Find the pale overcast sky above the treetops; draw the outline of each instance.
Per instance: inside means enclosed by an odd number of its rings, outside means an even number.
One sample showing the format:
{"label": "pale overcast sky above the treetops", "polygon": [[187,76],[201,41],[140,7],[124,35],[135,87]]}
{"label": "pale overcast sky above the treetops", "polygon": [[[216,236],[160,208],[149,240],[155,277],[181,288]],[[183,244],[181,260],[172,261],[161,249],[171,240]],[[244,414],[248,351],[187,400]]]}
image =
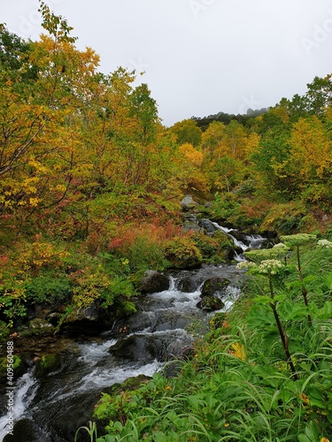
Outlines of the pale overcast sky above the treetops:
{"label": "pale overcast sky above the treetops", "polygon": [[[332,72],[331,0],[45,0],[96,50],[100,71],[145,71],[166,126],[245,113]],[[37,0],[0,0],[0,22],[42,32]]]}

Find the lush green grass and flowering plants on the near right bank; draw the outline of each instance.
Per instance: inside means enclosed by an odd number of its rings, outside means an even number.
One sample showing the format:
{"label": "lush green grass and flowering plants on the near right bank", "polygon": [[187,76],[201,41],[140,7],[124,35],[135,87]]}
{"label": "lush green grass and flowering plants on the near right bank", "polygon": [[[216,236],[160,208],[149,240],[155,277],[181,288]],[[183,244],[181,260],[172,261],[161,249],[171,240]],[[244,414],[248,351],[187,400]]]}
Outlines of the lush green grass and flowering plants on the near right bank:
{"label": "lush green grass and flowering plants on the near right bank", "polygon": [[197,336],[177,377],[158,373],[138,389],[104,393],[95,420],[107,423],[105,435],[97,438],[92,422],[80,431],[98,442],[328,441],[332,243],[314,235],[284,240],[285,248],[248,255],[241,300]]}

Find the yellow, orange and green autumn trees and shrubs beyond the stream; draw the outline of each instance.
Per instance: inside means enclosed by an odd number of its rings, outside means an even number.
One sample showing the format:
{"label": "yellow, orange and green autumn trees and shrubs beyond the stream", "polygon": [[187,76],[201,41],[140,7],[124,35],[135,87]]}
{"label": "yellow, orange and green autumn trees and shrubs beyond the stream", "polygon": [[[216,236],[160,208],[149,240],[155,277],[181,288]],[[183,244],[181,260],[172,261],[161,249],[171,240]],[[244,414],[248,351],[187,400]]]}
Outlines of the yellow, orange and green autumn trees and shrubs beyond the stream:
{"label": "yellow, orange and green autumn trees and shrubs beyond the stream", "polygon": [[121,310],[137,273],[225,259],[223,241],[181,229],[186,194],[202,217],[250,232],[328,232],[330,75],[258,116],[166,128],[135,72],[98,72],[66,19],[40,11],[37,42],[0,29],[4,331],[41,303]]}

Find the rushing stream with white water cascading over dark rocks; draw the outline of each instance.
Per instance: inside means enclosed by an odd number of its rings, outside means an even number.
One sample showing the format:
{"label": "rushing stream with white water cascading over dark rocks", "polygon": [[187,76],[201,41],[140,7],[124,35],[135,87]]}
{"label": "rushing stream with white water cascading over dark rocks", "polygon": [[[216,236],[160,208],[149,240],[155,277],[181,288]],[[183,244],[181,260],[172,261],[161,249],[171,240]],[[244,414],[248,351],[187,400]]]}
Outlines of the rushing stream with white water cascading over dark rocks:
{"label": "rushing stream with white water cascading over dark rocks", "polygon": [[[265,239],[259,235],[243,235],[236,239],[227,232],[235,246],[243,251],[259,248]],[[243,255],[235,256],[237,261]],[[63,339],[58,354],[61,366],[47,377],[37,379],[30,369],[15,381],[15,436],[7,436],[7,398],[2,387],[0,399],[0,440],[24,442],[73,442],[74,433],[91,420],[94,405],[101,392],[128,377],[152,376],[172,355],[179,356],[189,347],[194,332],[204,333],[213,313],[197,309],[201,287],[215,276],[228,278],[230,285],[222,293],[225,307],[231,309],[240,296],[243,271],[233,264],[206,265],[192,271],[167,272],[168,290],[146,295],[135,316],[116,324],[98,337]],[[17,437],[19,435],[19,438]],[[80,439],[81,440],[81,439]],[[85,440],[85,439],[84,439]]]}

